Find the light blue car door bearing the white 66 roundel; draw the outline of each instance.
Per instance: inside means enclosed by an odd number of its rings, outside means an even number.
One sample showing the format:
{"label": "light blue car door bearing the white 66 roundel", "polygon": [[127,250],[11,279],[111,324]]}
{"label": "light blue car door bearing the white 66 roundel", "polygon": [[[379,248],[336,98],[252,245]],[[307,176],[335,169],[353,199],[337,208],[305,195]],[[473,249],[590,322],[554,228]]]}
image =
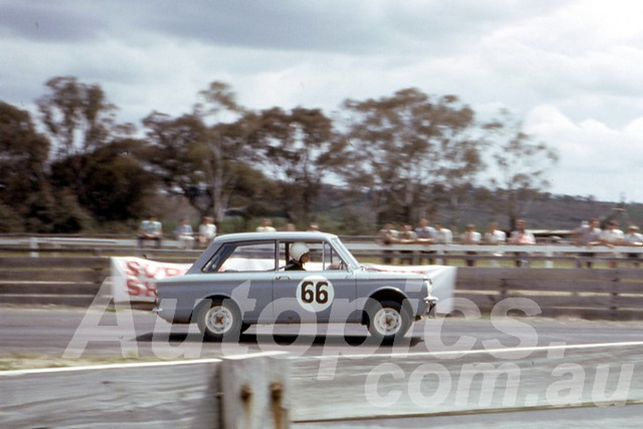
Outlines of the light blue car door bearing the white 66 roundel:
{"label": "light blue car door bearing the white 66 roundel", "polygon": [[[292,242],[280,243],[280,266]],[[273,311],[277,323],[346,322],[356,309],[356,280],[326,241],[306,242],[311,260],[304,271],[279,269],[273,280]]]}

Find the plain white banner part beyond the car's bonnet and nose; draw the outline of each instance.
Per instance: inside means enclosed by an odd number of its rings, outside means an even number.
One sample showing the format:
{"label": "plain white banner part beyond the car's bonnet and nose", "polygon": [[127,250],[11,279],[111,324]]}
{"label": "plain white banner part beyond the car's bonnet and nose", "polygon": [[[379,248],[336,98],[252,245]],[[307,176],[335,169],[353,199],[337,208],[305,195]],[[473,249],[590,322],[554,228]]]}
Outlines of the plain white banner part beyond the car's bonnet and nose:
{"label": "plain white banner part beyond the car's bonnet and nose", "polygon": [[435,313],[446,314],[453,311],[453,291],[455,290],[456,268],[443,265],[376,265],[368,264],[369,269],[389,273],[426,274],[433,283],[433,296],[438,298]]}

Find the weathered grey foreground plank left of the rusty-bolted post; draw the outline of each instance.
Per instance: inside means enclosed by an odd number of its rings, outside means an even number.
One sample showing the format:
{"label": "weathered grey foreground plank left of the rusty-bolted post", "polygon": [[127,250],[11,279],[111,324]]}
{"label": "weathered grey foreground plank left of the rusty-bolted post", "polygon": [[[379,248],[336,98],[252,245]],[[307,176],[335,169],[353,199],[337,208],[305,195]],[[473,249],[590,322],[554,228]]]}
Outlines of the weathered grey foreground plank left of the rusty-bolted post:
{"label": "weathered grey foreground plank left of the rusty-bolted post", "polygon": [[215,363],[0,373],[2,427],[218,428]]}

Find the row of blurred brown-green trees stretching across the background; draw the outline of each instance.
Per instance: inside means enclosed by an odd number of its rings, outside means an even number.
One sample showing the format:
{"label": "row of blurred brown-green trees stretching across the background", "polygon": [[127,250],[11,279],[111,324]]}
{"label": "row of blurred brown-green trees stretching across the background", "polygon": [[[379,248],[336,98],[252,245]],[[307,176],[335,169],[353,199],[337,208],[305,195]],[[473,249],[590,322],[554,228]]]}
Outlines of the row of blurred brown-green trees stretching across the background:
{"label": "row of blurred brown-green trees stretching across the background", "polygon": [[[42,132],[28,112],[0,102],[0,231],[125,224],[150,211],[159,185],[217,221],[241,208],[302,225],[334,205],[346,228],[414,222],[467,200],[489,166],[490,204],[515,219],[556,162],[508,115],[481,126],[456,96],[415,88],[346,100],[331,119],[306,107],[253,111],[214,81],[188,113],[143,118],[145,138],[117,122],[100,85],[75,77],[48,80],[37,106]],[[363,219],[363,201],[373,217]]]}

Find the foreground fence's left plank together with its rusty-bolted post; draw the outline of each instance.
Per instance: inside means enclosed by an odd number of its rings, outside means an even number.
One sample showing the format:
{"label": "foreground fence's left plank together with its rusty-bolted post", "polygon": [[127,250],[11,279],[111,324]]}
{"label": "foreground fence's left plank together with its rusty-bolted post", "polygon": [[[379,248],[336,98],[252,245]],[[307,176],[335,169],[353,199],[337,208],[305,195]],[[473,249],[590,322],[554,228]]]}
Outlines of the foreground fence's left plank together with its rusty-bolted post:
{"label": "foreground fence's left plank together with its rusty-bolted post", "polygon": [[289,427],[289,365],[243,358],[0,371],[0,426]]}

